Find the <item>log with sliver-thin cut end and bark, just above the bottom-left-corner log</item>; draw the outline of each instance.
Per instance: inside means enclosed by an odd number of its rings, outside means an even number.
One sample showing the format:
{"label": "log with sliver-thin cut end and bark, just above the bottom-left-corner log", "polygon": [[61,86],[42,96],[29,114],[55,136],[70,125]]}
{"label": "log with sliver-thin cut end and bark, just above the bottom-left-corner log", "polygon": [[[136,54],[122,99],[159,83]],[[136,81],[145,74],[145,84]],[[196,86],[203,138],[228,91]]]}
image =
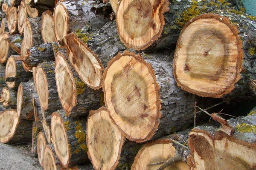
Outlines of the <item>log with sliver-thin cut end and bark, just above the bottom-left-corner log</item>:
{"label": "log with sliver-thin cut end and bark, just above the bottom-left-corner log", "polygon": [[20,83],[17,91],[17,114],[20,119],[34,119],[33,93],[35,93],[35,84],[32,80]]}

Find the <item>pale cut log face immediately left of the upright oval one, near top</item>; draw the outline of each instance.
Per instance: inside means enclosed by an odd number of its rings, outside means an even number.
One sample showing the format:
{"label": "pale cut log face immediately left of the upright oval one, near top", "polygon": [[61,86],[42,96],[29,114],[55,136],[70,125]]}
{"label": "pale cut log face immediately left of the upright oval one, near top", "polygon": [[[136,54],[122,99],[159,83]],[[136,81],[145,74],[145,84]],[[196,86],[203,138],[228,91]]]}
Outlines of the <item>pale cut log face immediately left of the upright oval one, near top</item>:
{"label": "pale cut log face immediately left of the upright oval one, near top", "polygon": [[56,37],[54,34],[54,25],[52,19],[52,12],[49,10],[42,14],[42,38],[44,42],[54,42]]}

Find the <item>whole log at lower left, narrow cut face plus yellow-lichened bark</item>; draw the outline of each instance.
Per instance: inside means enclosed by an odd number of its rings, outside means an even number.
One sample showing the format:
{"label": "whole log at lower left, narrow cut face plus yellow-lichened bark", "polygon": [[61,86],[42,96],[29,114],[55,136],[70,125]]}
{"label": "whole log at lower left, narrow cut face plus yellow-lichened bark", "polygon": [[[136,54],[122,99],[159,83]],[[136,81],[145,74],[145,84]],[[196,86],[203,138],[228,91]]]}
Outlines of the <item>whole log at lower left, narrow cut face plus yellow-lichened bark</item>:
{"label": "whole log at lower left, narrow cut face plus yellow-lichened bark", "polygon": [[70,119],[65,111],[52,113],[52,143],[58,160],[64,167],[89,161],[86,145],[86,119]]}

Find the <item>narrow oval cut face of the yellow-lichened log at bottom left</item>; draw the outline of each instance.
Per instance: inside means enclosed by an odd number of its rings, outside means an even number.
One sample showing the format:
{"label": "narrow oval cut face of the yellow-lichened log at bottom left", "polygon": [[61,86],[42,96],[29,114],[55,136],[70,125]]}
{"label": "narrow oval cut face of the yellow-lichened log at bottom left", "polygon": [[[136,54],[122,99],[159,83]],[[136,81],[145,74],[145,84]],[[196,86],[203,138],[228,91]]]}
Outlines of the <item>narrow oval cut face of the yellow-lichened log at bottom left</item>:
{"label": "narrow oval cut face of the yellow-lichened log at bottom left", "polygon": [[64,167],[67,167],[70,159],[70,149],[65,125],[58,113],[52,113],[51,130],[52,143],[58,160]]}

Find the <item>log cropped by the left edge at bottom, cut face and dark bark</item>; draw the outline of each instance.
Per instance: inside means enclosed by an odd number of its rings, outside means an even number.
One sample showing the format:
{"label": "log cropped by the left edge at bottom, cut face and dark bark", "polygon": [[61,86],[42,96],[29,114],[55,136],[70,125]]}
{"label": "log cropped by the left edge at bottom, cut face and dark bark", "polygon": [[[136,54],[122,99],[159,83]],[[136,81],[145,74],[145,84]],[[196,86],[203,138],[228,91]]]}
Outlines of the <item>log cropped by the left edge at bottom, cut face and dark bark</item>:
{"label": "log cropped by the left edge at bottom, cut face and dark bark", "polygon": [[19,119],[14,109],[0,113],[0,142],[18,144],[31,140],[32,121]]}

